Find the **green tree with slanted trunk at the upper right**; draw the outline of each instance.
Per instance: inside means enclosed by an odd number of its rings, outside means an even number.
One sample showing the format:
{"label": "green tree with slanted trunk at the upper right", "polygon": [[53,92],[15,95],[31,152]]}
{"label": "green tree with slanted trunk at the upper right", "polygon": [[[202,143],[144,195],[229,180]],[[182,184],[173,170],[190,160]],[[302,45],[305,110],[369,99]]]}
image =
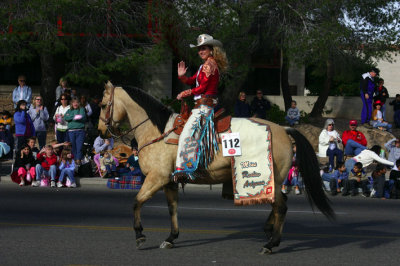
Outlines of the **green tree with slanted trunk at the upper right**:
{"label": "green tree with slanted trunk at the upper right", "polygon": [[[282,49],[293,64],[323,70],[323,88],[311,116],[320,116],[335,77],[372,56],[389,58],[398,43],[399,6],[395,1],[280,1]],[[366,72],[365,69],[363,72]],[[362,73],[362,72],[361,72]],[[358,77],[360,77],[360,74]]]}

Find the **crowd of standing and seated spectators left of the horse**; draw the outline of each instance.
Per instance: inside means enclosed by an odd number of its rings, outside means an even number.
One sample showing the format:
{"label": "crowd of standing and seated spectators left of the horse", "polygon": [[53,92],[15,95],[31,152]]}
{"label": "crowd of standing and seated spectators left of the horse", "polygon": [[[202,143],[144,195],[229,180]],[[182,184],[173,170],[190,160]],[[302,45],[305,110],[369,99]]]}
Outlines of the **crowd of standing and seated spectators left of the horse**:
{"label": "crowd of standing and seated spectators left of the horse", "polygon": [[[87,95],[80,95],[61,78],[55,89],[56,102],[48,110],[42,96],[33,97],[32,102],[25,76],[18,77],[18,84],[12,97],[14,114],[4,110],[0,117],[0,158],[13,159],[14,182],[20,186],[76,187],[75,175],[90,162],[102,177],[141,175],[135,142],[128,163],[120,164],[111,154],[114,140],[96,138],[99,96],[89,102]],[[53,125],[55,139],[48,141]]]}

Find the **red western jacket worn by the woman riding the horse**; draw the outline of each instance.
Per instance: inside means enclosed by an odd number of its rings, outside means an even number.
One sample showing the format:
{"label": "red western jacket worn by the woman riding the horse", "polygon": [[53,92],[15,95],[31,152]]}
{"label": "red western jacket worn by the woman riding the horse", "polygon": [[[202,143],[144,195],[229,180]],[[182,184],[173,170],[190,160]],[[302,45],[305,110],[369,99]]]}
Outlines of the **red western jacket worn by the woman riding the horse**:
{"label": "red western jacket worn by the woman riding the horse", "polygon": [[217,95],[219,83],[219,70],[217,62],[214,58],[209,57],[199,70],[192,77],[181,76],[179,79],[188,85],[196,83],[196,78],[199,86],[192,89],[192,95]]}

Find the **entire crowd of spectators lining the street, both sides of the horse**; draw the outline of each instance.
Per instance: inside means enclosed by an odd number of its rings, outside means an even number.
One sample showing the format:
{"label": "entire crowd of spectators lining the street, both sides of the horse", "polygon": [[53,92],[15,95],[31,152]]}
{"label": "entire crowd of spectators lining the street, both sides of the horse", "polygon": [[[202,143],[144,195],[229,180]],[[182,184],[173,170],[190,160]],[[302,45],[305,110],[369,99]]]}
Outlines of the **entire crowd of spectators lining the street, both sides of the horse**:
{"label": "entire crowd of spectators lining the street, both sides of the horse", "polygon": [[[372,69],[362,75],[360,94],[363,101],[361,122],[380,130],[391,131],[392,126],[386,122],[386,104],[389,97],[383,79],[375,85],[377,70]],[[66,79],[61,78],[55,90],[56,102],[53,110],[43,105],[43,98],[35,96],[32,102],[32,89],[26,85],[26,77],[18,77],[18,86],[13,91],[15,112],[12,115],[4,110],[0,117],[0,157],[13,158],[14,171],[12,178],[21,186],[30,183],[32,186],[48,182],[52,187],[76,187],[76,169],[82,165],[84,142],[94,139],[93,129],[100,115],[100,97],[93,97],[89,102],[87,95],[80,95],[75,88],[70,88]],[[400,95],[389,103],[394,108],[394,126],[400,127]],[[373,107],[373,108],[372,108]],[[267,119],[270,102],[264,98],[261,90],[251,103],[246,101],[246,93],[240,92],[234,106],[236,117],[258,117]],[[285,117],[290,126],[300,120],[300,111],[296,101]],[[46,145],[50,121],[54,122],[56,140]],[[393,138],[385,144],[388,159],[381,146],[368,149],[366,137],[357,130],[357,120],[349,122],[349,129],[340,134],[335,129],[333,119],[327,119],[319,136],[318,156],[328,157],[329,163],[322,173],[322,179],[329,183],[332,195],[342,193],[356,195],[358,189],[364,196],[385,198],[388,190],[395,191],[399,186],[400,139]],[[12,135],[15,133],[15,137]],[[36,147],[36,141],[39,148]],[[124,175],[141,175],[138,164],[137,148],[132,144],[132,155],[125,164],[120,165],[112,154],[114,140],[97,136],[93,141],[93,162],[100,176],[119,179]],[[91,151],[90,151],[91,152]],[[295,147],[294,147],[294,153]],[[372,163],[378,163],[371,176],[365,169]],[[390,180],[384,176],[390,169]],[[293,158],[282,192],[293,186],[295,193],[300,194],[301,176]],[[397,192],[396,192],[397,193]],[[393,193],[392,193],[393,194]],[[397,194],[395,194],[396,196]]]}

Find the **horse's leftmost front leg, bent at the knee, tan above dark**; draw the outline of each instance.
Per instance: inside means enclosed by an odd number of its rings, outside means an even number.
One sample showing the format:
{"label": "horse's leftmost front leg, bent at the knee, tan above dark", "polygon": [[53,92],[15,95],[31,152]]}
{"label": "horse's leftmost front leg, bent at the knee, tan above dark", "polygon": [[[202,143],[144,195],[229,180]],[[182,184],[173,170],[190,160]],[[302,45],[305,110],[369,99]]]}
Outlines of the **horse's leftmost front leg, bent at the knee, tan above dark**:
{"label": "horse's leftmost front leg, bent at the knee, tan above dark", "polygon": [[143,227],[141,223],[140,211],[142,205],[149,200],[158,190],[162,188],[162,180],[157,179],[157,174],[149,173],[143,183],[142,188],[136,195],[133,205],[134,222],[133,228],[136,234],[136,248],[140,248],[146,241],[146,236],[143,235]]}

